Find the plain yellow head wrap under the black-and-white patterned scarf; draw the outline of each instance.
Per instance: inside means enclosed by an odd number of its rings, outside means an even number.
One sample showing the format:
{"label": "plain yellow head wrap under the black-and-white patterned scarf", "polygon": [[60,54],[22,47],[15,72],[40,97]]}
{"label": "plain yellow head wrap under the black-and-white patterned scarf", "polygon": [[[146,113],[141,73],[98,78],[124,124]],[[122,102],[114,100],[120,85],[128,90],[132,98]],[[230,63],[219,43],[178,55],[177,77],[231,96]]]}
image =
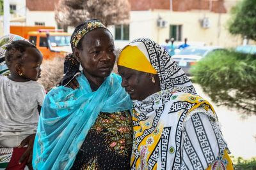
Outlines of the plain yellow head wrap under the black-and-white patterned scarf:
{"label": "plain yellow head wrap under the black-and-white patterned scarf", "polygon": [[119,55],[117,65],[146,73],[157,74],[156,69],[152,67],[147,57],[141,52],[138,46],[126,46]]}

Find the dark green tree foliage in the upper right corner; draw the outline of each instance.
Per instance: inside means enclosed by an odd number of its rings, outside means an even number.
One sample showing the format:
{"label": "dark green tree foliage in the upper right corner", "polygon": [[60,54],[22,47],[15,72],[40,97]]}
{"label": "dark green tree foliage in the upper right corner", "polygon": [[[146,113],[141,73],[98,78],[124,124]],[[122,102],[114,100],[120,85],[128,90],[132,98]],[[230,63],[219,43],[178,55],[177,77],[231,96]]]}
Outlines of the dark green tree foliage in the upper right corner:
{"label": "dark green tree foliage in the upper right corner", "polygon": [[256,0],[244,0],[237,3],[231,11],[232,18],[228,24],[231,34],[241,34],[256,41]]}

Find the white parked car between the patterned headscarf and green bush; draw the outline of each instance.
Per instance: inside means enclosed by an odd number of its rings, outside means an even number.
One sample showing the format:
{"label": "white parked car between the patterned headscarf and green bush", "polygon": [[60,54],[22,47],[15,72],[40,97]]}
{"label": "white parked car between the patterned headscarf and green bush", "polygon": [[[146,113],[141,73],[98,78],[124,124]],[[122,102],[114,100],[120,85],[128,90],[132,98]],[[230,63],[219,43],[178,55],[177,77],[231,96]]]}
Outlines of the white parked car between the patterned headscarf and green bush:
{"label": "white parked car between the patterned headscarf and green bush", "polygon": [[188,76],[191,76],[191,66],[195,65],[198,60],[216,50],[224,50],[224,48],[218,46],[188,46],[181,50],[177,55],[173,55],[172,59],[177,62]]}

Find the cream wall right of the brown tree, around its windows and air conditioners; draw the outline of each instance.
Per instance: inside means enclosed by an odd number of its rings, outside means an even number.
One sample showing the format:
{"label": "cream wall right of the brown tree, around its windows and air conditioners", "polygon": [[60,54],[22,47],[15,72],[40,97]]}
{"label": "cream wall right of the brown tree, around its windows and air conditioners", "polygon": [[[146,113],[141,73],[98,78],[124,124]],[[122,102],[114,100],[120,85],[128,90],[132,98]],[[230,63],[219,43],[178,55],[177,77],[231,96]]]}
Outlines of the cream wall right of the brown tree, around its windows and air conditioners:
{"label": "cream wall right of the brown tree, around its windows and air conditioners", "polygon": [[[228,13],[211,13],[207,10],[172,12],[168,10],[131,11],[130,38],[150,38],[158,43],[164,43],[170,36],[170,24],[182,25],[182,41],[188,38],[188,43],[205,44],[223,47],[241,45],[240,36],[232,36],[227,30]],[[167,21],[166,27],[157,27],[157,18]],[[209,18],[210,27],[204,29],[200,25],[202,18]],[[115,36],[115,27],[109,27]],[[129,41],[116,40],[115,45],[122,48]],[[179,43],[179,42],[175,42]]]}

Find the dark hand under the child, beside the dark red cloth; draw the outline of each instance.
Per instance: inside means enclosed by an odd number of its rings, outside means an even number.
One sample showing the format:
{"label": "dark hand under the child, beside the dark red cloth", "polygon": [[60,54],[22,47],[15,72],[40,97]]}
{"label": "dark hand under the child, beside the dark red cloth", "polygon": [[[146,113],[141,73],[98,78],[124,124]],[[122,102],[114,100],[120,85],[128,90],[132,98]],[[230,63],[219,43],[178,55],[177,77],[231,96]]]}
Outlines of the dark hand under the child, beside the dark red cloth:
{"label": "dark hand under the child, beside the dark red cloth", "polygon": [[22,147],[28,145],[28,148],[20,157],[19,164],[24,162],[24,160],[28,159],[26,165],[29,167],[29,169],[33,169],[32,155],[33,155],[33,146],[34,146],[35,136],[36,136],[36,134],[29,135],[27,138],[25,138],[23,141],[21,141],[21,143],[19,145],[19,148],[22,148]]}

